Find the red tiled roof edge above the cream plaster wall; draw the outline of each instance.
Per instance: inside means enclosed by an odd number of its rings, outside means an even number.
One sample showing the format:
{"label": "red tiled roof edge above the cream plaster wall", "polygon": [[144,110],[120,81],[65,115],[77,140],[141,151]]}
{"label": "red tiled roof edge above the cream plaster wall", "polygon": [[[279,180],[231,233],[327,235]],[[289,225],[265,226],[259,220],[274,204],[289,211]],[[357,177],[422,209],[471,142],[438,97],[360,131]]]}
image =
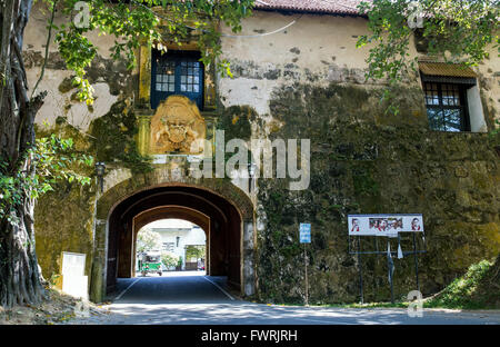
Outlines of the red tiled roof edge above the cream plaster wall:
{"label": "red tiled roof edge above the cream plaster wall", "polygon": [[[359,14],[362,0],[256,0],[256,10],[289,10],[299,12]],[[364,0],[369,2],[371,0]]]}

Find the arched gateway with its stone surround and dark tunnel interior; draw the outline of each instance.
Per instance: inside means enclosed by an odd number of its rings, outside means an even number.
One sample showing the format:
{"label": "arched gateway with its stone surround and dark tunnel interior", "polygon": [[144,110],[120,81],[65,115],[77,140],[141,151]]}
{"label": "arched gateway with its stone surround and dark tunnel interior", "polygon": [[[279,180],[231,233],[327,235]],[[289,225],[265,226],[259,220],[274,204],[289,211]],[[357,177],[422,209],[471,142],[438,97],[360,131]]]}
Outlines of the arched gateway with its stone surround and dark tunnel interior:
{"label": "arched gateway with its stone surround and dark tunnel interior", "polygon": [[[231,285],[240,287],[241,295],[256,293],[257,235],[250,197],[227,179],[189,176],[171,179],[167,167],[124,180],[106,179],[108,187],[104,186],[104,192],[96,201],[92,301],[106,299],[107,291],[113,289],[118,271],[131,276],[132,266],[127,262],[131,262],[133,255],[133,227],[138,230],[141,224],[169,216],[204,226],[203,230],[209,234],[207,242],[211,242],[212,275],[227,275]],[[203,225],[203,218],[209,218],[209,228]]]}

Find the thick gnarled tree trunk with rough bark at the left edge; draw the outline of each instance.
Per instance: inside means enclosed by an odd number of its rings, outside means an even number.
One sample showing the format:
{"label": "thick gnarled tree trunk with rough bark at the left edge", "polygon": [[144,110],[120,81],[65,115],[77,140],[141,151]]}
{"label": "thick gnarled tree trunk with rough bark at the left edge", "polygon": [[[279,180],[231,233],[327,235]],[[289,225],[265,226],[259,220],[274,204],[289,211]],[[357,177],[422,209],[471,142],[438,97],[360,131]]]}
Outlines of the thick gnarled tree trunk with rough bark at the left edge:
{"label": "thick gnarled tree trunk with rough bark at the left edge", "polygon": [[[22,37],[32,0],[0,0],[0,160],[3,175],[29,177],[34,165],[27,150],[34,143],[34,116],[46,93],[30,100],[22,62]],[[0,220],[0,306],[36,304],[43,295],[34,252],[34,200],[24,189]]]}

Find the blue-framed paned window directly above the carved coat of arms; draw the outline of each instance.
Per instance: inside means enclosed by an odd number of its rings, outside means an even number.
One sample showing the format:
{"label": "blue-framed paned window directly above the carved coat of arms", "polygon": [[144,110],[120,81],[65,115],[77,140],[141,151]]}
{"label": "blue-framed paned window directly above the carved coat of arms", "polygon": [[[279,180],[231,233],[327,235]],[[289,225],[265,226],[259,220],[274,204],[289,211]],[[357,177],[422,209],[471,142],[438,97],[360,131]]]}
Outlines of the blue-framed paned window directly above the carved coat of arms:
{"label": "blue-framed paned window directly above the carved coat of arms", "polygon": [[186,96],[203,107],[203,65],[193,51],[151,52],[151,108],[172,95]]}

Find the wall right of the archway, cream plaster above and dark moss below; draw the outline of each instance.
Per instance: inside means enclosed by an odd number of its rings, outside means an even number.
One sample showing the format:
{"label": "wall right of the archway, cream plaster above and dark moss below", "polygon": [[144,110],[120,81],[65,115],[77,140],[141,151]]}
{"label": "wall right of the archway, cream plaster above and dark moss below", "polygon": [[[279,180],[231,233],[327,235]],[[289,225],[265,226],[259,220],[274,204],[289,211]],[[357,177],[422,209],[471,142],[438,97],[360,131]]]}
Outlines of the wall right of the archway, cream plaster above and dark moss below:
{"label": "wall right of the archway, cream plaster above and dark moss below", "polygon": [[[301,303],[304,296],[299,222],[312,224],[310,299],[359,299],[358,258],[349,255],[348,214],[423,214],[427,254],[419,256],[424,295],[500,250],[500,168],[497,136],[429,130],[418,75],[406,77],[396,98],[398,116],[380,105],[383,81],[364,81],[368,49],[361,18],[257,12],[243,36],[223,38],[234,79],[219,80],[224,106],[254,110],[252,137],[311,140],[308,190],[260,179],[259,294],[262,300]],[[229,34],[229,31],[226,31]],[[410,54],[417,51],[411,47]],[[474,68],[489,130],[500,99],[500,59]],[[362,241],[366,250],[384,240]],[[404,240],[403,250],[411,250]],[[423,245],[419,245],[423,247]],[[354,245],[351,245],[354,247]],[[392,241],[391,249],[397,249]],[[384,256],[362,257],[366,300],[390,298]],[[416,289],[413,257],[396,259],[397,298]]]}

